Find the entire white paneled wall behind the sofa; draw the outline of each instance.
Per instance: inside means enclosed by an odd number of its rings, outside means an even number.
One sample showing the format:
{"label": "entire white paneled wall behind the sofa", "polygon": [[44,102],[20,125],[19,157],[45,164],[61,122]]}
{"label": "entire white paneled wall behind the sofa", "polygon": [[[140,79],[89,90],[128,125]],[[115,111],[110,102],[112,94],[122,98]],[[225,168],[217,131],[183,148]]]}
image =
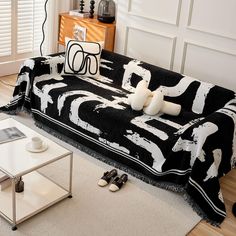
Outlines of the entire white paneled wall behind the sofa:
{"label": "entire white paneled wall behind the sofa", "polygon": [[236,0],[118,0],[115,50],[236,91]]}

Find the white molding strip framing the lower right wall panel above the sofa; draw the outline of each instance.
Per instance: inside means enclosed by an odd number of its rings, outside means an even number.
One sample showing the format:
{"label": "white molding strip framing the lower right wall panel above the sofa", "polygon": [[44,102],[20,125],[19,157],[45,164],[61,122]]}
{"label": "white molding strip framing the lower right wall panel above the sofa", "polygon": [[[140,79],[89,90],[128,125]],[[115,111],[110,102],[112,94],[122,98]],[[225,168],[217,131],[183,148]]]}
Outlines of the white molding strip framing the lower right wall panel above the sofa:
{"label": "white molding strip framing the lower right wall panel above the sofa", "polygon": [[226,54],[226,55],[229,55],[229,56],[236,57],[236,54],[233,54],[233,53],[230,53],[230,52],[218,49],[218,48],[212,48],[212,47],[208,47],[207,45],[198,44],[198,43],[191,42],[191,41],[185,41],[184,42],[184,48],[183,48],[183,54],[182,54],[181,67],[180,67],[181,68],[180,69],[180,73],[181,74],[184,74],[187,50],[188,50],[188,46],[189,45],[192,45],[192,46],[195,46],[195,47],[199,47],[199,48],[204,48],[204,49],[207,49],[207,50],[210,50],[210,51],[214,51],[214,52],[218,52],[218,53],[222,53],[222,54]]}

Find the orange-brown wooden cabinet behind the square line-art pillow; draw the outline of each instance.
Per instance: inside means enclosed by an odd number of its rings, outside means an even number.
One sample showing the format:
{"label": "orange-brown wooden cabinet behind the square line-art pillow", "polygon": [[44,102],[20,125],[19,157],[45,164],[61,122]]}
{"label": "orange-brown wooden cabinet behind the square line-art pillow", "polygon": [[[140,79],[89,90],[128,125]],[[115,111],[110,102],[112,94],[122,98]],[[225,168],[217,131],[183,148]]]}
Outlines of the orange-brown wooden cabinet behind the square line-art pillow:
{"label": "orange-brown wooden cabinet behind the square line-art pillow", "polygon": [[75,38],[74,30],[76,26],[86,28],[86,41],[104,41],[104,49],[113,51],[115,41],[115,23],[105,24],[96,19],[70,16],[68,13],[59,15],[59,37],[58,43],[65,45],[65,37]]}

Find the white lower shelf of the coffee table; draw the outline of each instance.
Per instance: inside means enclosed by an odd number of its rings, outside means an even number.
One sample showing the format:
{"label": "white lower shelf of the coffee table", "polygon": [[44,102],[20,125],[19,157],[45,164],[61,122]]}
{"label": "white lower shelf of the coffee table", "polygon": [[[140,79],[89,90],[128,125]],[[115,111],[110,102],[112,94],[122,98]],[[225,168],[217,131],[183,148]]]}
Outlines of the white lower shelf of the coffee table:
{"label": "white lower shelf of the coffee table", "polygon": [[[69,196],[68,191],[37,171],[24,175],[23,181],[24,191],[16,193],[17,224]],[[11,186],[0,191],[0,211],[9,221],[13,220]]]}

